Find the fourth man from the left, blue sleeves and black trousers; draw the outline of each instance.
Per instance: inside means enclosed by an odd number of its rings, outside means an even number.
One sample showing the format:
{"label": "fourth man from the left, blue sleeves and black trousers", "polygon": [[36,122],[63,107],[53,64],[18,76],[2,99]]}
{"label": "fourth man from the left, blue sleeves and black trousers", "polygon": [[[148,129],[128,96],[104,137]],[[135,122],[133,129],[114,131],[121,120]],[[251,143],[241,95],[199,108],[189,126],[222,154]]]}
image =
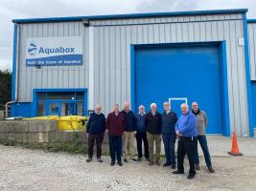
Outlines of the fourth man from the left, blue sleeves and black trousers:
{"label": "fourth man from the left, blue sleeves and black trousers", "polygon": [[144,105],[139,106],[139,112],[136,114],[137,118],[137,151],[138,151],[138,161],[143,157],[142,155],[142,141],[144,143],[144,157],[149,160],[149,143],[147,139],[146,126],[145,126],[145,107]]}

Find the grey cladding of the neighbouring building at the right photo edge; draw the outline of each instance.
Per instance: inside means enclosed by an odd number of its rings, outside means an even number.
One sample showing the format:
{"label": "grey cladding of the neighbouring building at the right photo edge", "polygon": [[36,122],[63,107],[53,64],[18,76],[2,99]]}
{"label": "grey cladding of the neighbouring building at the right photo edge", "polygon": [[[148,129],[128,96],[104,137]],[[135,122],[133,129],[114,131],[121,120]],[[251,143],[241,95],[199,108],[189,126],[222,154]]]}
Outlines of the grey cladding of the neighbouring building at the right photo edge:
{"label": "grey cladding of the neighbouring building at the right photo edge", "polygon": [[250,79],[256,80],[256,23],[248,23]]}

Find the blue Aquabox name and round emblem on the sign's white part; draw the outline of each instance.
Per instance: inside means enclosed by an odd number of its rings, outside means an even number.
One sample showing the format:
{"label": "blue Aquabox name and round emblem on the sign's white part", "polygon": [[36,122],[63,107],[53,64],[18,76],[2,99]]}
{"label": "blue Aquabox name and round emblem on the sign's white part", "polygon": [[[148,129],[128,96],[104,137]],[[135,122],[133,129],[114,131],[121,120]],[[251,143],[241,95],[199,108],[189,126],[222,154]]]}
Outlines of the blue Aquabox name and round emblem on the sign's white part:
{"label": "blue Aquabox name and round emblem on the sign's white part", "polygon": [[44,53],[44,54],[51,54],[51,53],[75,53],[74,47],[54,47],[54,48],[44,48],[40,47],[37,48],[34,42],[31,42],[28,52],[31,55],[35,55],[36,53]]}

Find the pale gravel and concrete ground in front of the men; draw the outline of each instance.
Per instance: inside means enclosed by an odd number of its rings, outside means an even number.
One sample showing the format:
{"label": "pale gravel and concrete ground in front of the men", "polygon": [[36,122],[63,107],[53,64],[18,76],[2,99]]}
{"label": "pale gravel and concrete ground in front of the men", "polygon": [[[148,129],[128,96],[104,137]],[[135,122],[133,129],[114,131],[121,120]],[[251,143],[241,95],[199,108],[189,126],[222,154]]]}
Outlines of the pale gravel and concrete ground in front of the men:
{"label": "pale gravel and concrete ground in front of the men", "polygon": [[[123,167],[85,162],[86,156],[47,153],[0,145],[0,190],[256,190],[256,138],[239,138],[243,157],[226,154],[231,138],[208,137],[216,173],[208,173],[203,158],[194,180],[173,175],[171,168],[149,166],[146,160]],[[162,163],[164,159],[162,160]]]}

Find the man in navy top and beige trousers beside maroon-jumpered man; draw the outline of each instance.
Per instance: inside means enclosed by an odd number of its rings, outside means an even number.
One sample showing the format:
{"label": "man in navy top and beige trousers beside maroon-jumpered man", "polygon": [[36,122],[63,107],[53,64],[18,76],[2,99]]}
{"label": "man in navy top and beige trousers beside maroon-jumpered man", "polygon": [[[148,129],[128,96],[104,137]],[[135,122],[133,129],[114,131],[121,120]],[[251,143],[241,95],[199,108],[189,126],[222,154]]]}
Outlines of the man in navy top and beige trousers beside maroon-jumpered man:
{"label": "man in navy top and beige trousers beside maroon-jumpered man", "polygon": [[123,133],[124,161],[128,162],[128,159],[136,161],[137,159],[134,159],[134,137],[137,133],[137,121],[134,113],[129,109],[128,101],[125,101],[122,113],[126,121],[125,132]]}

